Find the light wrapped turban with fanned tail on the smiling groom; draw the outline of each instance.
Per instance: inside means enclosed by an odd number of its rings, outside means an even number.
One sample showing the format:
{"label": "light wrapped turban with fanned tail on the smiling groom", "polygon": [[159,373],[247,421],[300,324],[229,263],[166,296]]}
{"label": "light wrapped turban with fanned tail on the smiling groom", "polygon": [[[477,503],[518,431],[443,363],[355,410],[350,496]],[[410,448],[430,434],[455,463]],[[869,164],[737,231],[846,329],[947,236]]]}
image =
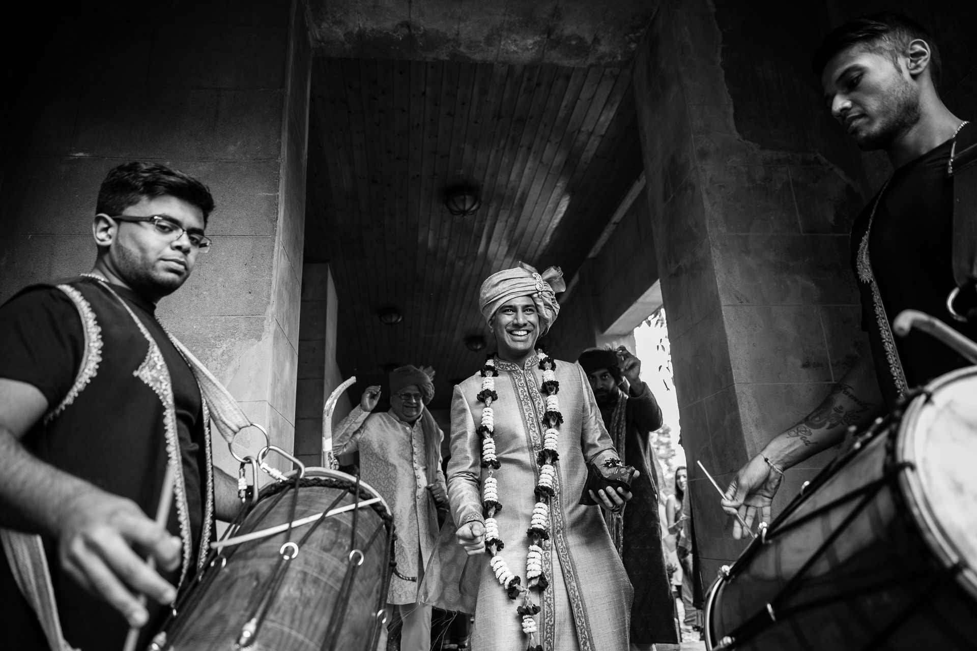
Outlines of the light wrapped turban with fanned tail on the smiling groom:
{"label": "light wrapped turban with fanned tail on the smiling groom", "polygon": [[536,306],[539,315],[539,335],[545,335],[550,325],[560,313],[560,304],[556,302],[556,293],[565,292],[566,283],[563,282],[563,271],[559,266],[551,266],[542,273],[529,264],[520,263],[511,269],[496,271],[482,283],[479,292],[479,305],[486,321],[491,322],[495,311],[513,299],[528,296]]}

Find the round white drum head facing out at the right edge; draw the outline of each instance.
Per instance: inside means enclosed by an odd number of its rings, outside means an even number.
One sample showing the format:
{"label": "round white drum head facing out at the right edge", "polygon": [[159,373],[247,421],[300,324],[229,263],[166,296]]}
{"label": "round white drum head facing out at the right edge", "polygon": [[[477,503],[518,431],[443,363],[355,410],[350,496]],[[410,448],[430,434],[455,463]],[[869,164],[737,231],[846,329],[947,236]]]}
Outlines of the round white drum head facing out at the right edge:
{"label": "round white drum head facing out at the right edge", "polygon": [[977,367],[935,380],[906,411],[898,459],[903,490],[923,537],[947,567],[960,563],[977,597]]}

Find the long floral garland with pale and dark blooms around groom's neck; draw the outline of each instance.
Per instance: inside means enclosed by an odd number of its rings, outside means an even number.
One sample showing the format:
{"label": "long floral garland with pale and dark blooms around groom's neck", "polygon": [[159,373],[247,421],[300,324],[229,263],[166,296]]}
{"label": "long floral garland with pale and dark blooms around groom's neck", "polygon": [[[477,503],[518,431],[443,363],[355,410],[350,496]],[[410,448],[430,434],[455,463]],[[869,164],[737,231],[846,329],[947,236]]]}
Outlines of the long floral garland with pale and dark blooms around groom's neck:
{"label": "long floral garland with pale and dark blooms around groom's neck", "polygon": [[557,441],[559,440],[560,430],[558,427],[563,424],[563,414],[560,413],[560,403],[556,394],[560,391],[560,383],[556,380],[556,362],[543,350],[536,350],[539,356],[539,369],[543,372],[543,384],[540,388],[546,400],[546,412],[543,414],[542,424],[546,427],[543,435],[543,448],[536,456],[536,463],[539,466],[539,479],[534,489],[536,504],[532,509],[530,528],[526,534],[530,538],[530,549],[526,556],[526,585],[518,574],[512,572],[502,558],[501,551],[505,549],[498,531],[498,522],[495,520],[495,513],[502,509],[498,501],[498,480],[493,476],[495,470],[500,467],[498,458],[495,455],[495,414],[492,411],[491,403],[498,400],[498,393],[495,392],[495,378],[498,371],[495,369],[495,359],[488,355],[485,365],[482,367],[482,390],[479,392],[478,399],[485,403],[482,410],[482,424],[476,431],[482,436],[482,468],[488,468],[488,477],[483,482],[482,487],[482,506],[485,508],[486,517],[486,548],[491,552],[492,571],[499,584],[506,590],[510,599],[516,600],[522,596],[522,605],[516,608],[516,614],[522,619],[523,632],[529,635],[530,642],[528,651],[543,651],[542,644],[536,642],[536,621],[534,616],[539,612],[539,605],[533,603],[530,590],[537,588],[540,592],[546,590],[549,581],[543,573],[543,541],[549,540],[549,500],[555,495],[554,482],[556,481],[556,464],[559,459],[557,454]]}

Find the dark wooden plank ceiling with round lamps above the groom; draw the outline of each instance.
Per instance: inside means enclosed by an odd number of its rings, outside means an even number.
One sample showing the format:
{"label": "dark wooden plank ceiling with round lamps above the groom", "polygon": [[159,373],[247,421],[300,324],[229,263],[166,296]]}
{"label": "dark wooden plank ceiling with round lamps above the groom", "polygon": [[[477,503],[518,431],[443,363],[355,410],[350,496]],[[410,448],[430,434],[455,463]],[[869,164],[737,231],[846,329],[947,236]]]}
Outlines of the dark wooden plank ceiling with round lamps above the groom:
{"label": "dark wooden plank ceiling with round lamps above the groom", "polygon": [[[331,263],[351,398],[432,365],[444,408],[486,352],[464,344],[488,339],[482,281],[520,260],[569,281],[640,175],[630,72],[316,59],[312,96],[305,259]],[[474,216],[448,213],[457,185],[478,188]]]}

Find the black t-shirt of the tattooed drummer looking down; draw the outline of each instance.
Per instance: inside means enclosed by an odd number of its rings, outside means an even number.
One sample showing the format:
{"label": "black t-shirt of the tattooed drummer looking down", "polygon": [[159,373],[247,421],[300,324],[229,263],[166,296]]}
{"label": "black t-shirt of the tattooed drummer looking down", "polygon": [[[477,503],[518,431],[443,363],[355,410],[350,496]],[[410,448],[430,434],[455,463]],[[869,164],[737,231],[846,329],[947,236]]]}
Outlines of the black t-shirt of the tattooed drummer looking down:
{"label": "black t-shirt of the tattooed drummer looking down", "polygon": [[[947,295],[956,286],[951,266],[954,182],[947,175],[952,141],[931,149],[896,170],[882,192],[871,220],[869,255],[885,318],[890,328],[904,309],[918,309],[977,337],[977,327],[959,323],[947,311]],[[869,227],[874,200],[852,228],[852,266],[859,275],[859,248]],[[862,328],[869,333],[875,371],[890,403],[897,394],[886,342],[894,341],[908,387],[969,365],[951,348],[915,332],[889,340],[877,318],[871,284],[859,280]]]}

